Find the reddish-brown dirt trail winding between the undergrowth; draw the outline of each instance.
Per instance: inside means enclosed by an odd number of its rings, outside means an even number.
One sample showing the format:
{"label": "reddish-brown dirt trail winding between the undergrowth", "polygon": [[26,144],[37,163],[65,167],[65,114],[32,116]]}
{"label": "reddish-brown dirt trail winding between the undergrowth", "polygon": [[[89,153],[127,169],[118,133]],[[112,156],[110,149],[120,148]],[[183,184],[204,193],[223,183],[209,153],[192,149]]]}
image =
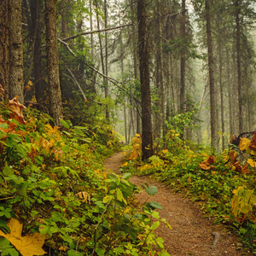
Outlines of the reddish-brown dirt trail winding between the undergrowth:
{"label": "reddish-brown dirt trail winding between the undergrowth", "polygon": [[[119,172],[124,154],[114,154],[106,160],[105,169],[108,172]],[[165,247],[171,256],[241,256],[244,255],[236,250],[236,236],[225,230],[224,225],[212,224],[189,199],[183,195],[175,194],[172,189],[168,189],[165,184],[158,183],[148,177],[131,177],[131,183],[138,187],[148,183],[149,186],[156,186],[158,193],[150,196],[149,201],[157,201],[164,208],[160,210],[160,217],[166,218],[171,224],[172,230],[165,226],[160,226],[156,234],[165,240]],[[140,193],[138,201],[145,202],[148,195]],[[247,256],[253,254],[247,253]]]}

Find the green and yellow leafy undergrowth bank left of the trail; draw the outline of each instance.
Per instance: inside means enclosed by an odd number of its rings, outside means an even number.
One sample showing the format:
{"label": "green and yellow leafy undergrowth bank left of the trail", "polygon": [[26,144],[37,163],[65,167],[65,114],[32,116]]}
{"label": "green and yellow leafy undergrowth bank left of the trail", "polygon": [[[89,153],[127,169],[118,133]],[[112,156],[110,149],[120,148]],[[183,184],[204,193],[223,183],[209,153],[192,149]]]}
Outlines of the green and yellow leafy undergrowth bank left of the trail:
{"label": "green and yellow leafy undergrowth bank left of the trail", "polygon": [[58,129],[43,113],[23,113],[16,98],[0,108],[1,255],[169,255],[154,235],[166,223],[160,205],[140,206],[131,174],[102,169],[118,148],[108,125],[61,120]]}

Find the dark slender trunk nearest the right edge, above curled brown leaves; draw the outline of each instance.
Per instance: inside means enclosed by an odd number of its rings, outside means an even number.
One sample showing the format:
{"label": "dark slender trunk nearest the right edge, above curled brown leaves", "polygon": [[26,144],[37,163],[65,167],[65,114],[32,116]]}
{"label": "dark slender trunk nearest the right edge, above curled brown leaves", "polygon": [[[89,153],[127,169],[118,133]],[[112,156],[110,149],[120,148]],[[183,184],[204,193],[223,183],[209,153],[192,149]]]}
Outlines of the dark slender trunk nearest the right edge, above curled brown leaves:
{"label": "dark slender trunk nearest the right edge, above curled brown leaves", "polygon": [[241,1],[236,0],[236,65],[237,65],[237,85],[238,85],[238,118],[239,133],[242,132],[242,90],[241,90],[241,28],[240,28],[240,12]]}

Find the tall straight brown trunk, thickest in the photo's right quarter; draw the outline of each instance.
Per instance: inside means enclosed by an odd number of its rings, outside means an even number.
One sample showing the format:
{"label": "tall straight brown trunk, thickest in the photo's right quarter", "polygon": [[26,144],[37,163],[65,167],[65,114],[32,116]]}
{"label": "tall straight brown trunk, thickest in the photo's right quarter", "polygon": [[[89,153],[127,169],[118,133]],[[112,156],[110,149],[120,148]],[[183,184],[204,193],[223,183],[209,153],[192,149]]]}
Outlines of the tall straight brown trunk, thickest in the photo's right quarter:
{"label": "tall straight brown trunk, thickest in the photo's right quarter", "polygon": [[211,1],[206,0],[206,19],[207,19],[207,49],[208,49],[208,68],[210,82],[210,123],[211,123],[211,146],[218,149],[218,134],[217,134],[217,116],[216,116],[216,85],[214,79],[214,61],[212,49],[212,24],[211,24]]}

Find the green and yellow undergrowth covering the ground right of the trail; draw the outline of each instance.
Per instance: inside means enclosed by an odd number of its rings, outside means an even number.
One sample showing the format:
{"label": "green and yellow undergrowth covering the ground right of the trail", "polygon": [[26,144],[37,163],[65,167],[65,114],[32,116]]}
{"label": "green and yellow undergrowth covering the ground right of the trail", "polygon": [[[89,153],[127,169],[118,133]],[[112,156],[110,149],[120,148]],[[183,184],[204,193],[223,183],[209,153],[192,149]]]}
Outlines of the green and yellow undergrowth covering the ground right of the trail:
{"label": "green and yellow undergrowth covering the ground right of the trail", "polygon": [[151,175],[197,201],[206,217],[235,230],[244,247],[256,254],[255,141],[256,134],[252,140],[241,138],[237,147],[212,154],[210,148],[185,142],[177,131],[169,130],[164,146],[143,162],[137,135],[121,171]]}

